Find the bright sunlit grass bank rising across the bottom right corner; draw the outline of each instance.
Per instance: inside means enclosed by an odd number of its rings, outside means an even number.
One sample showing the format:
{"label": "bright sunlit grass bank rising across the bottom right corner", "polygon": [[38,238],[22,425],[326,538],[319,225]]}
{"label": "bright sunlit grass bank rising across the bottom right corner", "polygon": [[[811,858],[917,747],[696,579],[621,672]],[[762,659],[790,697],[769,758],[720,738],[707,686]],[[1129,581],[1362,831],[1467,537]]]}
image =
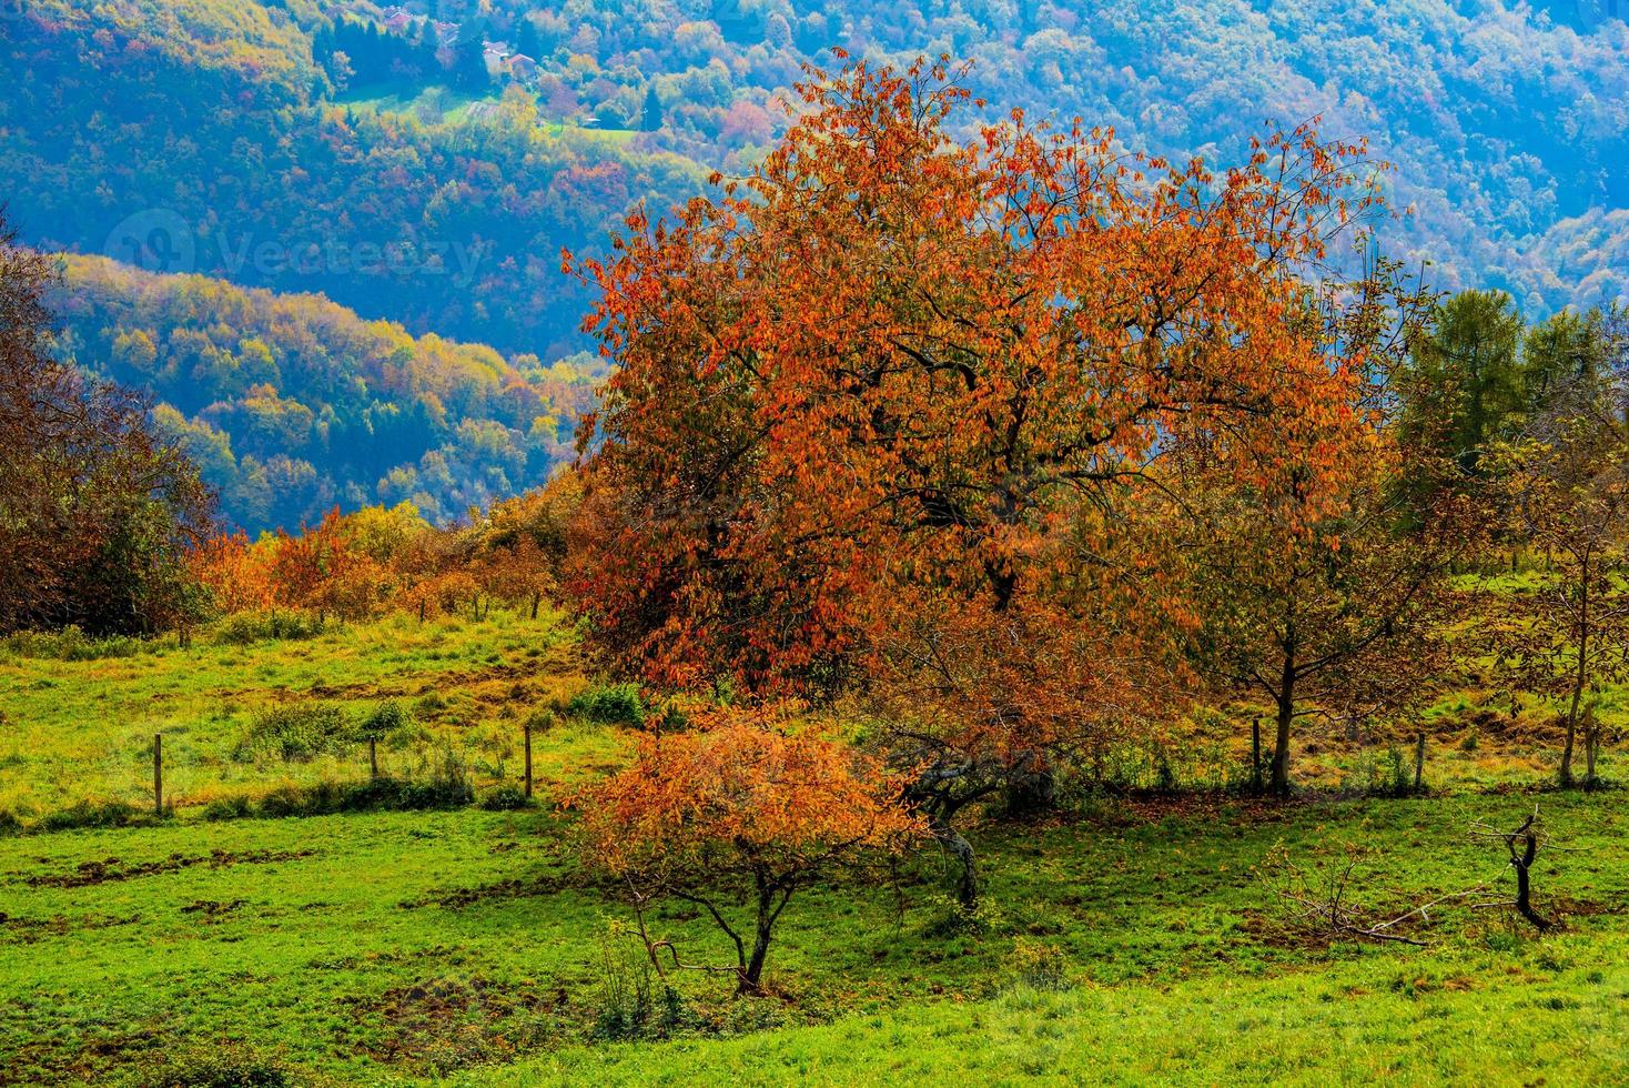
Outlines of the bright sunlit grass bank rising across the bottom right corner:
{"label": "bright sunlit grass bank rising across the bottom right corner", "polygon": [[[1629,945],[1391,961],[1267,981],[1018,989],[725,1042],[586,1049],[464,1083],[1622,1083]],[[1378,959],[1378,958],[1377,958]],[[1513,967],[1512,961],[1521,966]]]}

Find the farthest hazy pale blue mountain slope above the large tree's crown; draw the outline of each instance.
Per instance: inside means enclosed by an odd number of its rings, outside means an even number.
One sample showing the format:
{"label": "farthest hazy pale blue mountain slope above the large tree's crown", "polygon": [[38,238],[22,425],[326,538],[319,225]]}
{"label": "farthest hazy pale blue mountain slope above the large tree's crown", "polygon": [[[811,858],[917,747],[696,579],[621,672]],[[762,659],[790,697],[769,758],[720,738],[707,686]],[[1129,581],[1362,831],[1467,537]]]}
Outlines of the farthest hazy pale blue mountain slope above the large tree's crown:
{"label": "farthest hazy pale blue mountain slope above the large tree's crown", "polygon": [[[727,166],[769,138],[777,88],[828,46],[971,59],[992,116],[1080,116],[1173,156],[1236,161],[1266,122],[1323,116],[1328,134],[1368,137],[1396,165],[1388,186],[1407,215],[1383,225],[1383,243],[1430,261],[1440,287],[1505,287],[1530,316],[1629,298],[1629,269],[1609,261],[1629,233],[1621,222],[1601,233],[1598,218],[1629,208],[1629,0],[492,7],[494,34],[539,42],[585,109],[626,109],[648,83],[660,138]],[[1557,251],[1572,256],[1567,272],[1546,265]],[[1585,283],[1574,267],[1601,275]]]}

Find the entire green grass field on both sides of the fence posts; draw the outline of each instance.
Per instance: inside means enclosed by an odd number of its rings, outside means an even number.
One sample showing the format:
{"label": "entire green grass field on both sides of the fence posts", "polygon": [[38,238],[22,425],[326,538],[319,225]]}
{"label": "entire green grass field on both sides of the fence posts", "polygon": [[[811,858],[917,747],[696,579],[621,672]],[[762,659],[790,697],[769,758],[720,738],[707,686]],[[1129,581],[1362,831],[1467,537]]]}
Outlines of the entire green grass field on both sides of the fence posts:
{"label": "entire green grass field on both sides of the fence posts", "polygon": [[[155,730],[176,759],[169,819],[0,837],[0,1083],[195,1083],[222,1055],[292,1083],[1629,1078],[1618,792],[1486,792],[1473,774],[1411,800],[1072,795],[1044,821],[973,829],[976,923],[950,923],[925,850],[883,886],[795,897],[774,997],[684,976],[652,1033],[668,1038],[632,1041],[617,1016],[652,981],[551,805],[202,818],[233,792],[367,774],[353,754],[236,757],[264,704],[404,700],[420,731],[388,769],[453,748],[484,793],[515,780],[502,743],[518,746],[526,713],[585,684],[559,617],[0,660],[0,806],[24,821],[83,796],[140,801]],[[538,739],[544,792],[624,751],[621,726],[564,722]],[[1497,876],[1468,826],[1535,803],[1574,850],[1535,875],[1562,919],[1543,937],[1458,902],[1407,927],[1427,948],[1331,941],[1290,925],[1259,871],[1276,850],[1316,866],[1360,844],[1354,894],[1396,909]],[[660,930],[722,956],[681,907]]]}

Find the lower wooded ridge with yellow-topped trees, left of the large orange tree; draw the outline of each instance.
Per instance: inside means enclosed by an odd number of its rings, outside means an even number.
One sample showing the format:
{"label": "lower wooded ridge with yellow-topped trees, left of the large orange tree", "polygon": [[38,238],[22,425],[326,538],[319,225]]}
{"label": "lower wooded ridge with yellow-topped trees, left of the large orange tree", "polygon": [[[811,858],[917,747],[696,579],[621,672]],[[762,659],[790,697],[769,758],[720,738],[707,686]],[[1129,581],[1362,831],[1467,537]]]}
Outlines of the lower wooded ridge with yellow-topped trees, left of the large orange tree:
{"label": "lower wooded ridge with yellow-topped trees, left of the large orange tree", "polygon": [[415,339],[321,296],[104,257],[68,256],[64,274],[60,350],[151,389],[160,423],[251,531],[336,503],[406,498],[446,520],[512,495],[570,456],[593,396],[583,366]]}

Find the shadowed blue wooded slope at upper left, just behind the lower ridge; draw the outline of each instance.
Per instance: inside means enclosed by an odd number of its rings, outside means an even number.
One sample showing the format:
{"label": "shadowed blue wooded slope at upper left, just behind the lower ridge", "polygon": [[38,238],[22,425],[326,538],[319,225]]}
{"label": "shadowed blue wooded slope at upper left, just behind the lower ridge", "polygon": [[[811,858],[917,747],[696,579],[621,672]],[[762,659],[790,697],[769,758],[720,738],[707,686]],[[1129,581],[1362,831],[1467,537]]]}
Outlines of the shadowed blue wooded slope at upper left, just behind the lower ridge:
{"label": "shadowed blue wooded slope at upper left, just behind the lower ridge", "polygon": [[323,292],[414,332],[577,350],[560,248],[704,181],[525,96],[450,121],[334,104],[280,7],[31,0],[0,34],[0,192],[24,239]]}

